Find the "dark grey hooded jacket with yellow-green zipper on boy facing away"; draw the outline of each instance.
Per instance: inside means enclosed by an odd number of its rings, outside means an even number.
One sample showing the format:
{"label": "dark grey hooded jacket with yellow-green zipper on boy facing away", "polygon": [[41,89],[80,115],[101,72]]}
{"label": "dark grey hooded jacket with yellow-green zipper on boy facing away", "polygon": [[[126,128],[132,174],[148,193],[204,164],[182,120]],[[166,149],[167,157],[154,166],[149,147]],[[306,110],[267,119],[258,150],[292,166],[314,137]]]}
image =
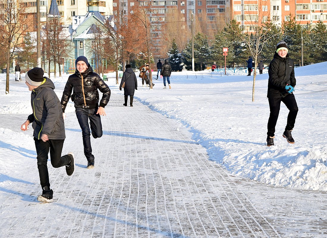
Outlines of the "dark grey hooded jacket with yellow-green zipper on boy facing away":
{"label": "dark grey hooded jacket with yellow-green zipper on boy facing away", "polygon": [[61,105],[55,91],[55,85],[50,78],[44,77],[45,82],[31,93],[33,114],[28,121],[33,122],[33,136],[40,140],[42,134],[52,140],[65,139],[65,125],[63,122]]}

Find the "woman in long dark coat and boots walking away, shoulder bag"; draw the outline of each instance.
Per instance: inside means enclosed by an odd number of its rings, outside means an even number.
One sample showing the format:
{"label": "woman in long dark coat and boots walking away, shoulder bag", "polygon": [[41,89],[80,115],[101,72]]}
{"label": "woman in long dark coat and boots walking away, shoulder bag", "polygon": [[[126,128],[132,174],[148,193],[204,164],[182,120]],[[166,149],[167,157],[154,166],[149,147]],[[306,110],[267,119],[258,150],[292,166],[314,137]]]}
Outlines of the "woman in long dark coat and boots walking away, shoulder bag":
{"label": "woman in long dark coat and boots walking away, shoulder bag", "polygon": [[127,99],[128,95],[130,96],[129,105],[133,107],[133,97],[135,89],[137,90],[137,80],[136,75],[131,69],[130,64],[125,66],[126,70],[123,74],[122,81],[120,82],[119,89],[122,90],[123,83],[125,82],[124,86],[124,98],[125,103],[123,104],[125,107],[127,106]]}

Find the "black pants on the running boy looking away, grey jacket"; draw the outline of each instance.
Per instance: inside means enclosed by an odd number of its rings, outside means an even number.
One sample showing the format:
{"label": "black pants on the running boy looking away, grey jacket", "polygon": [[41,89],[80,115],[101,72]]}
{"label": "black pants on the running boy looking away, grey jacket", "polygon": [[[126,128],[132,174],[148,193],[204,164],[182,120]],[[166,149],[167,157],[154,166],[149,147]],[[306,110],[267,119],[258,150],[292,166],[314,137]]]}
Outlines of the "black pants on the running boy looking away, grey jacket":
{"label": "black pants on the running boy looking away, grey jacket", "polygon": [[41,186],[42,188],[44,186],[48,186],[50,188],[49,173],[47,167],[49,151],[51,164],[55,168],[59,168],[61,166],[69,164],[70,156],[61,156],[64,140],[48,140],[46,142],[43,142],[42,140],[38,140],[34,137],[34,142],[37,153],[36,158],[38,161],[38,170],[40,175]]}

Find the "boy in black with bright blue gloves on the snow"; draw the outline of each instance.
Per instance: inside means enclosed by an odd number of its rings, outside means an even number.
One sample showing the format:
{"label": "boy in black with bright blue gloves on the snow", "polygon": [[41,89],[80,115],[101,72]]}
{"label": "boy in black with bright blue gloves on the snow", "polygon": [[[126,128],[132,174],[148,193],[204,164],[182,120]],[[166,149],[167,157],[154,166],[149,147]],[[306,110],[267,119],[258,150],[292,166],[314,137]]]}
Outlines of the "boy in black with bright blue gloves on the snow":
{"label": "boy in black with bright blue gloves on the snow", "polygon": [[293,130],[295,119],[298,114],[298,105],[293,94],[296,80],[294,76],[294,62],[288,57],[288,47],[284,41],[276,45],[276,53],[269,64],[268,74],[268,101],[270,115],[267,125],[267,146],[274,145],[275,126],[277,123],[281,102],[289,110],[287,124],[283,137],[288,143],[293,144]]}

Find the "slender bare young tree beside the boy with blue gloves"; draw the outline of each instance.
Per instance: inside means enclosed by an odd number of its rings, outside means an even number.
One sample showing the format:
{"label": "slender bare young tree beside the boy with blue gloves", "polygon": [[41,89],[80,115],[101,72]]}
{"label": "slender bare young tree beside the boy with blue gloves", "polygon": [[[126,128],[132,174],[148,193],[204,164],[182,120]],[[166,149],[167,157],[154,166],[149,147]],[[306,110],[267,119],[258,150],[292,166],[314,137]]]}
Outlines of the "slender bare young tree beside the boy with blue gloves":
{"label": "slender bare young tree beside the boy with blue gloves", "polygon": [[[249,50],[250,54],[254,59],[254,69],[258,65],[258,57],[260,56],[262,50],[265,47],[265,44],[272,38],[274,38],[277,33],[272,31],[273,28],[276,28],[276,20],[271,20],[268,6],[264,5],[265,1],[259,1],[256,4],[244,5],[244,26],[242,31],[237,31],[238,38],[241,39],[245,47]],[[236,26],[237,27],[237,26]],[[255,88],[255,78],[256,70],[253,73],[253,87],[252,87],[252,102],[254,101],[254,88]]]}

